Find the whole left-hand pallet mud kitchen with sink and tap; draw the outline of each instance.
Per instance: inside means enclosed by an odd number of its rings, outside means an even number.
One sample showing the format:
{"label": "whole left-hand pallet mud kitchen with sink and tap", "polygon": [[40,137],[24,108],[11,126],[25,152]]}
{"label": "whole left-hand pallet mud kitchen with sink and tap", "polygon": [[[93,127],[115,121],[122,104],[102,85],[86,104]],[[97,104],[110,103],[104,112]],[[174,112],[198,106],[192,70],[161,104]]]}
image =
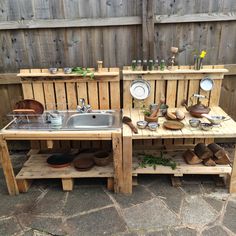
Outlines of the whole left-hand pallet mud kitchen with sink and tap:
{"label": "whole left-hand pallet mud kitchen with sink and tap", "polygon": [[[71,191],[76,178],[101,177],[109,189],[122,191],[119,69],[25,69],[18,76],[24,100],[0,136],[9,194],[27,192],[34,179],[61,179],[63,190]],[[31,141],[16,175],[9,140]]]}

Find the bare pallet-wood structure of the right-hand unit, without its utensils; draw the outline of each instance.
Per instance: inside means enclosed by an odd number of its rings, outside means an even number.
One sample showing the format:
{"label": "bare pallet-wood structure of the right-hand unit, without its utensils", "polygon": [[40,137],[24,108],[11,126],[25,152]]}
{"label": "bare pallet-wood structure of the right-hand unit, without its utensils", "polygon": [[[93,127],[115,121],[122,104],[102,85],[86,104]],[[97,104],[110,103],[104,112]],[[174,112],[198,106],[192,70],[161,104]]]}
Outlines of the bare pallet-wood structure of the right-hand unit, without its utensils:
{"label": "bare pallet-wood structure of the right-hand unit, without its utensils", "polygon": [[[132,193],[132,177],[139,174],[171,174],[174,176],[182,176],[184,174],[217,174],[220,176],[226,175],[230,177],[231,193],[236,192],[236,155],[234,155],[233,167],[230,165],[216,165],[214,167],[199,165],[188,165],[183,160],[182,156],[176,156],[177,168],[172,170],[170,167],[157,166],[141,168],[137,163],[136,149],[150,150],[162,148],[166,151],[175,150],[175,148],[193,147],[196,143],[204,142],[211,143],[214,138],[236,138],[236,123],[230,118],[222,123],[222,127],[213,128],[210,131],[203,131],[192,128],[189,125],[190,114],[181,107],[181,101],[187,101],[192,94],[197,93],[205,95],[208,101],[205,105],[210,106],[211,113],[214,115],[228,115],[218,106],[220,98],[220,89],[224,73],[227,70],[222,66],[205,66],[202,70],[196,71],[189,66],[175,67],[174,70],[165,71],[132,71],[130,67],[125,67],[123,70],[124,90],[124,111],[125,116],[131,117],[134,124],[139,120],[144,120],[144,114],[132,96],[129,88],[133,80],[137,76],[150,83],[150,96],[143,101],[143,104],[149,106],[151,103],[159,103],[161,97],[166,98],[166,104],[170,109],[182,109],[185,113],[185,119],[182,121],[185,127],[182,130],[173,131],[163,128],[162,124],[166,120],[164,117],[159,117],[160,128],[157,131],[149,131],[147,129],[139,129],[138,134],[131,132],[130,128],[123,124],[123,174],[124,174],[124,192]],[[200,88],[200,81],[203,78],[209,77],[214,81],[212,91],[206,92]],[[204,120],[204,119],[203,119]],[[171,155],[171,154],[170,154]],[[175,160],[175,158],[173,158]]]}

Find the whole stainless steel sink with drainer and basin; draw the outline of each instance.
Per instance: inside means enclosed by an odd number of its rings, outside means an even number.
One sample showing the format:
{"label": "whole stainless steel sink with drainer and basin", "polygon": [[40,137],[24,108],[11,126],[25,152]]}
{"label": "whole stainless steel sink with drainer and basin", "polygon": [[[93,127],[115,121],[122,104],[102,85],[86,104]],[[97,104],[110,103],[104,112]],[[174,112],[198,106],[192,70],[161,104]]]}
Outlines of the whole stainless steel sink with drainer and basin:
{"label": "whole stainless steel sink with drainer and basin", "polygon": [[17,130],[110,130],[121,127],[120,110],[92,110],[90,113],[78,113],[77,111],[58,111],[62,117],[62,123],[48,122],[47,111],[38,117],[25,116],[15,118],[7,129]]}

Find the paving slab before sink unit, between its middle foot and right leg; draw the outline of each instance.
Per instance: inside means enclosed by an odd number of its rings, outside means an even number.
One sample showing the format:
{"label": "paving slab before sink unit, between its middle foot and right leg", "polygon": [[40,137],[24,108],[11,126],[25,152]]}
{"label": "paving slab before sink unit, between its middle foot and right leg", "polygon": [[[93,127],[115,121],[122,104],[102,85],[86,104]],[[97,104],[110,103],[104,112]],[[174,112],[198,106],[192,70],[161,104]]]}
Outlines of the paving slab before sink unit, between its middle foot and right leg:
{"label": "paving slab before sink unit, between its middle foot and right leg", "polygon": [[113,202],[100,186],[75,187],[74,190],[68,194],[66,204],[63,207],[63,214],[70,216],[111,204],[113,204]]}

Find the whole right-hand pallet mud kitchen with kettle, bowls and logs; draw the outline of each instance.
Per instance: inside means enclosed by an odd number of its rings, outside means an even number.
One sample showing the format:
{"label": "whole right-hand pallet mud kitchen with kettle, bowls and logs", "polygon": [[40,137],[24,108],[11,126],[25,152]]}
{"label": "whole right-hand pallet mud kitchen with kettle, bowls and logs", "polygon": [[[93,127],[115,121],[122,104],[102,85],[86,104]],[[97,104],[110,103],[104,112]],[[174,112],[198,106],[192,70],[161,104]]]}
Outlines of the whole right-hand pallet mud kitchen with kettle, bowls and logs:
{"label": "whole right-hand pallet mud kitchen with kettle, bowls and logs", "polygon": [[133,132],[123,124],[124,192],[132,193],[140,174],[170,174],[173,184],[187,174],[219,175],[236,192],[236,155],[230,161],[214,143],[236,138],[236,122],[219,107],[226,72],[223,66],[124,67],[123,115],[138,127]]}

